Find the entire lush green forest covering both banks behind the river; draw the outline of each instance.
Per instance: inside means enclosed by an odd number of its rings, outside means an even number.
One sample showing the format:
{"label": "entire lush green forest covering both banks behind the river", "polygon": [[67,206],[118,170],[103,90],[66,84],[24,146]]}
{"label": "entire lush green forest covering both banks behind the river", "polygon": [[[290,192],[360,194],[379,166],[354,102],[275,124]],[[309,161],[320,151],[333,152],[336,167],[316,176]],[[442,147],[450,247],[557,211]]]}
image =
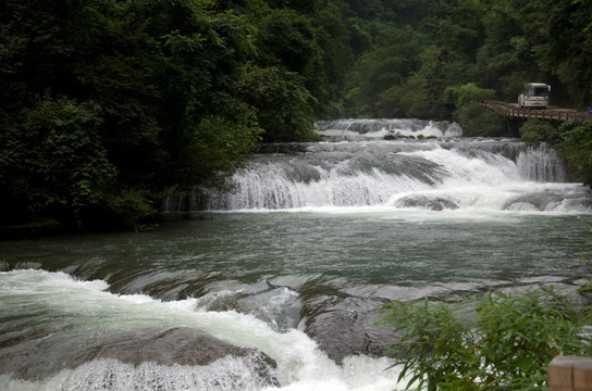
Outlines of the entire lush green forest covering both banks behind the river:
{"label": "entire lush green forest covering both banks behind the river", "polygon": [[319,118],[497,135],[471,103],[544,81],[582,109],[590,64],[589,0],[4,0],[0,225],[148,223]]}

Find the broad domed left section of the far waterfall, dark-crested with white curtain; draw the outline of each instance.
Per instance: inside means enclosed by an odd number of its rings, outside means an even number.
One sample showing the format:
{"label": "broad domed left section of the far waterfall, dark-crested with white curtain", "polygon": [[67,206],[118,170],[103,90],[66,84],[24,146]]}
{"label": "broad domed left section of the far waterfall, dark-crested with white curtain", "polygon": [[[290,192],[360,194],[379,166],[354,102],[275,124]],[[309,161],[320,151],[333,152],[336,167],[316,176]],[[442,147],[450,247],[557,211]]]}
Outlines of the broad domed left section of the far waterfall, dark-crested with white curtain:
{"label": "broad domed left section of the far waterfall, dark-crested with white curtain", "polygon": [[427,190],[444,173],[422,159],[382,154],[317,153],[306,160],[262,156],[234,178],[231,193],[211,193],[207,209],[282,210],[382,204],[396,192]]}

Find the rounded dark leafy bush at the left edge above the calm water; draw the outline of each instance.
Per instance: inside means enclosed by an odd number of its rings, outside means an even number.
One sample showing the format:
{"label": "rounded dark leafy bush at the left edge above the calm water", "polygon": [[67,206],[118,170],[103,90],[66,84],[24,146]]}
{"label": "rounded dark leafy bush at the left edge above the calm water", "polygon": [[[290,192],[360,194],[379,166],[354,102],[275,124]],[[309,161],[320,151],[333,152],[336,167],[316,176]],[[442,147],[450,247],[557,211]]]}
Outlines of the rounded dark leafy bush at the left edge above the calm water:
{"label": "rounded dark leafy bush at the left edge above the calm water", "polygon": [[[23,113],[23,123],[0,136],[1,199],[3,214],[48,213],[69,222],[111,186],[115,167],[101,144],[100,106],[66,98],[42,97]],[[16,205],[28,210],[15,211]],[[12,202],[11,202],[12,201]],[[10,216],[13,220],[17,216]]]}

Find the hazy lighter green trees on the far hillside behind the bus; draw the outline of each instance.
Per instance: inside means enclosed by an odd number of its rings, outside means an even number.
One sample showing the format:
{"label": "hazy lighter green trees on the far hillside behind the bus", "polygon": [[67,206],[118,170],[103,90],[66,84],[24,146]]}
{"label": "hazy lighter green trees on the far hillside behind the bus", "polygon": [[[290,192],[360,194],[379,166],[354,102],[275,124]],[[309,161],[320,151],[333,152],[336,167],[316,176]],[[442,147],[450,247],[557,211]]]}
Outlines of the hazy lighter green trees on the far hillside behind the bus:
{"label": "hazy lighter green trees on the far hillside behind the bus", "polygon": [[[513,102],[525,83],[546,81],[553,85],[553,104],[592,102],[585,65],[592,61],[592,8],[587,1],[344,2],[356,11],[354,26],[363,29],[371,46],[348,79],[353,114],[449,115],[443,111],[452,103],[446,89],[467,83]],[[402,20],[403,14],[408,17]],[[411,34],[403,36],[409,28]],[[419,41],[409,51],[411,37]]]}

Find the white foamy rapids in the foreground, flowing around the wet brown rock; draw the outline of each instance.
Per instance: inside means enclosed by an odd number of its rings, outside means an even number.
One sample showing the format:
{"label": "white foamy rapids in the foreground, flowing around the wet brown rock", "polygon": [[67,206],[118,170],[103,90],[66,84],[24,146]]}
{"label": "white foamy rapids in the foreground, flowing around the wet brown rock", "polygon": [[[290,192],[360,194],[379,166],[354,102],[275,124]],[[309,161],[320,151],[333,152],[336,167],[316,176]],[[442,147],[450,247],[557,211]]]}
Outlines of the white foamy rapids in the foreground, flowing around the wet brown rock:
{"label": "white foamy rapids in the foreground, flowing around the wet brown rock", "polygon": [[[47,336],[84,349],[88,337],[118,331],[186,327],[233,345],[255,348],[278,363],[280,387],[264,384],[249,357],[225,356],[205,366],[134,366],[112,358],[91,360],[37,380],[0,375],[2,390],[392,390],[397,374],[385,358],[351,356],[336,365],[297,329],[279,332],[252,315],[206,311],[196,299],[161,302],[147,295],[118,295],[104,281],[77,281],[62,273],[0,273],[0,324],[39,324]],[[273,305],[273,303],[271,303]],[[26,308],[25,313],[24,308]],[[42,325],[41,325],[42,324]],[[40,339],[37,339],[39,338]],[[40,342],[38,342],[40,343]],[[49,348],[50,345],[46,346]],[[69,346],[65,346],[66,349]],[[60,357],[60,346],[48,355]],[[0,364],[2,358],[0,357]],[[35,365],[35,363],[30,363]]]}

